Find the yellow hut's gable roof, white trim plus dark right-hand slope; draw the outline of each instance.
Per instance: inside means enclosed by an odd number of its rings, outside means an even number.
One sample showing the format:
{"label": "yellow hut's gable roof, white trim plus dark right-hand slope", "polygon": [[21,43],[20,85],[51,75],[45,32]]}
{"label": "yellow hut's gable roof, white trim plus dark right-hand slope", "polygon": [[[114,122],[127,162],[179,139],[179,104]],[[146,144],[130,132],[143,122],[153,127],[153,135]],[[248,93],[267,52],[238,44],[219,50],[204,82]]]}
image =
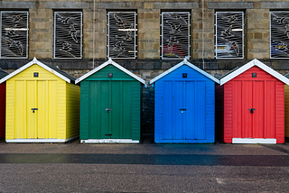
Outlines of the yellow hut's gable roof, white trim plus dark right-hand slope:
{"label": "yellow hut's gable roof, white trim plus dark right-hand slope", "polygon": [[14,72],[12,72],[11,74],[7,75],[5,78],[0,79],[0,83],[5,82],[9,78],[13,78],[15,75],[19,74],[24,69],[28,69],[29,67],[33,66],[33,64],[37,64],[38,66],[42,67],[43,69],[46,69],[46,70],[50,71],[52,74],[54,74],[57,77],[65,80],[68,83],[74,83],[74,81],[75,81],[75,78],[71,77],[69,74],[65,73],[61,69],[58,69],[58,68],[53,67],[53,66],[48,65],[48,64],[43,64],[41,61],[37,60],[34,57],[34,59],[31,62],[25,64],[20,69],[16,69]]}

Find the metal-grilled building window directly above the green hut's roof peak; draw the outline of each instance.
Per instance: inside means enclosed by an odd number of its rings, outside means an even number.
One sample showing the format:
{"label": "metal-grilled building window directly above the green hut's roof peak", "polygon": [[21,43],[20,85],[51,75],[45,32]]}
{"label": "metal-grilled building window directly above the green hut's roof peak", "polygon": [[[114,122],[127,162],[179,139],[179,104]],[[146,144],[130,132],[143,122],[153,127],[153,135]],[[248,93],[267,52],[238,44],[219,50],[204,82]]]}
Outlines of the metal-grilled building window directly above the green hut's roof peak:
{"label": "metal-grilled building window directly above the green hut's roof peak", "polygon": [[135,12],[108,12],[107,58],[136,59],[136,15]]}

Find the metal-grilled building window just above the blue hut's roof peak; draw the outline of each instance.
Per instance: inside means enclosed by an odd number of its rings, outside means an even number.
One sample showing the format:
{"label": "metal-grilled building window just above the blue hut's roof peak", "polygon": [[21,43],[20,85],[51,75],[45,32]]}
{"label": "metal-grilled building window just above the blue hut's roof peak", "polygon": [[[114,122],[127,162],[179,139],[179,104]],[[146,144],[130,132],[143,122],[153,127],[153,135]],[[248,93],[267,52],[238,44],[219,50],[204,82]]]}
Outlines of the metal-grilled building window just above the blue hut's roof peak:
{"label": "metal-grilled building window just above the blue hut's roof peak", "polygon": [[191,35],[189,12],[163,12],[161,18],[161,58],[190,58]]}

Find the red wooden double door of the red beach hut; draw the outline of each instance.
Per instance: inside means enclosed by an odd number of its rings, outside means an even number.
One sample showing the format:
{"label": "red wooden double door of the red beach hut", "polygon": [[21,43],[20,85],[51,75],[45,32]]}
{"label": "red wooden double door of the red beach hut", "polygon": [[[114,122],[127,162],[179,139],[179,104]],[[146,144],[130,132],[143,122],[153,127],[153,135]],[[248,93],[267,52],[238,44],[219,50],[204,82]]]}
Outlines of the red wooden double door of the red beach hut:
{"label": "red wooden double door of the red beach hut", "polygon": [[233,81],[233,138],[275,138],[275,81]]}

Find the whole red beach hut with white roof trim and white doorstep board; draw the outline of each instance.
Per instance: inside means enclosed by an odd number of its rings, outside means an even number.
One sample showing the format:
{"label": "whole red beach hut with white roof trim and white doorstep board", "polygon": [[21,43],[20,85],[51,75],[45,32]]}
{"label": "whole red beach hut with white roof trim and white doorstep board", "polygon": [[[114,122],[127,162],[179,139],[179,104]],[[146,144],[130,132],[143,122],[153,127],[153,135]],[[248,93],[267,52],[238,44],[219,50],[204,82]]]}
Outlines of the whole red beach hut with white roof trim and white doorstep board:
{"label": "whole red beach hut with white roof trim and white doorstep board", "polygon": [[216,87],[216,133],[222,142],[283,143],[284,84],[259,60],[234,69]]}

